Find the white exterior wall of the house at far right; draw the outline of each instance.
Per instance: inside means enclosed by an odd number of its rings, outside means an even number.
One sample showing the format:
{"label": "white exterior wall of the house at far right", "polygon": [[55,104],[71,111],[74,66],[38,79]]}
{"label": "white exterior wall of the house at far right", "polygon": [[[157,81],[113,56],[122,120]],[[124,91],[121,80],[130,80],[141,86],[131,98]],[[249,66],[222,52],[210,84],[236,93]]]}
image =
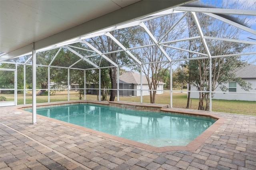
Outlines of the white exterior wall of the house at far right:
{"label": "white exterior wall of the house at far right", "polygon": [[[214,93],[213,94],[213,98],[212,99],[223,99],[223,100],[241,100],[241,101],[256,101],[256,79],[246,79],[246,81],[252,83],[252,90],[248,91],[244,91],[240,85],[236,84],[236,91],[239,93],[231,93],[231,92],[225,92],[225,93]],[[228,83],[226,84],[226,87],[228,87]],[[191,91],[196,91],[196,87],[191,87]],[[217,89],[215,90],[216,92],[220,91],[220,88],[217,87]],[[241,92],[245,92],[245,93],[241,93]],[[254,92],[254,94],[250,93],[250,92]],[[190,97],[191,98],[199,98],[199,92],[191,92],[190,93]]]}

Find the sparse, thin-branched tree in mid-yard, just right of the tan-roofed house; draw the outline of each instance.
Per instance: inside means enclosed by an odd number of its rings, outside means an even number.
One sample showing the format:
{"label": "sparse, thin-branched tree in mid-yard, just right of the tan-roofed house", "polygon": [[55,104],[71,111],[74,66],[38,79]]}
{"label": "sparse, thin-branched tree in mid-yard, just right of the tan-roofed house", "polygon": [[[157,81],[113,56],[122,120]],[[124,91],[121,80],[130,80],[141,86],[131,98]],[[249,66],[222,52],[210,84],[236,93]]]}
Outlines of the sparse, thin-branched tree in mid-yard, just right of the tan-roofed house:
{"label": "sparse, thin-branched tree in mid-yard, just right of the tan-roofed house", "polygon": [[[156,41],[167,42],[170,40],[175,40],[181,36],[180,32],[183,32],[183,28],[178,28],[177,34],[167,34],[170,28],[177,21],[178,15],[172,14],[168,16],[163,16],[153,20],[148,20],[144,22],[150,33],[156,38]],[[154,44],[155,41],[149,36],[149,34],[141,28],[140,34],[137,35],[137,41],[132,42],[133,46]],[[168,57],[174,58],[177,51],[168,48],[166,46],[162,47],[164,51],[167,52]],[[157,45],[150,45],[140,49],[136,49],[136,57],[142,61],[142,63],[148,63],[142,65],[142,73],[146,76],[148,81],[148,87],[150,89],[150,103],[155,103],[156,99],[156,89],[160,80],[166,77],[165,73],[170,70],[170,62],[164,53],[160,50]],[[162,62],[167,61],[167,62]],[[140,68],[137,68],[140,71]]]}

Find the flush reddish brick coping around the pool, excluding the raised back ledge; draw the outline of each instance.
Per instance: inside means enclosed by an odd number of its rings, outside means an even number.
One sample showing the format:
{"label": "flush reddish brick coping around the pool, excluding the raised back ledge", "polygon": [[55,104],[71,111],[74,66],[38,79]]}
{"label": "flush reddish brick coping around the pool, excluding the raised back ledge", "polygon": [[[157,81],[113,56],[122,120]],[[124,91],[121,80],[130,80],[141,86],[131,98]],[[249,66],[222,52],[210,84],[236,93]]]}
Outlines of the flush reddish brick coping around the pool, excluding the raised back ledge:
{"label": "flush reddish brick coping around the pool, excluding the raised back ledge", "polygon": [[[81,101],[81,102],[75,102],[75,101],[70,101],[68,103],[65,104],[69,104],[69,103],[90,103],[90,101]],[[94,102],[92,102],[94,103]],[[100,104],[101,102],[96,102],[96,104]],[[42,106],[47,106],[48,103],[44,103],[42,104]],[[63,103],[62,103],[63,104]],[[104,102],[104,104],[106,105],[106,102]],[[25,106],[28,107],[28,106]],[[22,109],[24,107],[16,107],[17,110],[20,111],[20,109]],[[207,116],[207,117],[212,117],[214,119],[218,119],[216,122],[214,122],[209,128],[207,128],[204,132],[202,132],[200,135],[198,135],[194,140],[192,140],[189,144],[187,144],[186,146],[162,146],[162,147],[156,147],[156,146],[151,146],[148,144],[144,144],[141,142],[137,142],[137,141],[133,141],[130,139],[126,139],[126,138],[122,138],[120,136],[114,136],[112,134],[107,134],[104,132],[100,132],[97,130],[93,130],[90,128],[86,128],[86,127],[82,127],[79,125],[74,125],[71,123],[67,123],[64,121],[60,121],[57,119],[53,119],[53,118],[49,118],[49,117],[45,117],[42,115],[37,115],[38,117],[40,117],[41,119],[46,119],[55,123],[60,123],[62,125],[66,125],[72,128],[77,128],[79,130],[84,130],[88,133],[92,133],[95,136],[100,136],[102,138],[109,138],[111,140],[116,140],[116,142],[124,142],[133,146],[137,146],[139,148],[143,148],[143,149],[147,149],[147,150],[151,150],[153,152],[168,152],[168,151],[175,151],[175,150],[186,150],[186,151],[195,151],[197,150],[221,125],[222,123],[224,123],[224,121],[226,120],[226,118],[223,117],[218,117],[216,115],[210,115],[209,113],[198,113],[197,111],[181,111],[180,109],[177,109],[177,111],[175,111],[176,109],[173,108],[164,108],[161,109],[161,111],[164,112],[177,112],[177,113],[181,113],[181,114],[191,114],[191,115],[200,115],[200,116]],[[24,113],[30,114],[32,115],[32,113],[27,112],[22,110]]]}

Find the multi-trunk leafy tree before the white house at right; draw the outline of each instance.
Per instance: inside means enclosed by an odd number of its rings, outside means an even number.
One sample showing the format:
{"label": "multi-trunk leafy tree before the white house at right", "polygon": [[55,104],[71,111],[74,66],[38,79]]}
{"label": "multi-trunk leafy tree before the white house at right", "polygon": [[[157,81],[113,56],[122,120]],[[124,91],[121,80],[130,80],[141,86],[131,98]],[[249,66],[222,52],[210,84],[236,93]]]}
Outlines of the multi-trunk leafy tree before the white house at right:
{"label": "multi-trunk leafy tree before the white house at right", "polygon": [[[230,26],[224,22],[214,20],[210,16],[198,14],[198,18],[201,22],[200,25],[205,36],[238,39],[241,34],[240,29]],[[187,21],[190,36],[196,36],[196,34],[199,35],[194,19],[190,17]],[[192,32],[193,34],[191,34]],[[212,56],[241,53],[250,47],[250,45],[244,43],[219,40],[207,40],[207,45]],[[198,40],[192,40],[192,42],[189,43],[189,47],[194,51],[207,53],[205,46],[202,43],[199,43]],[[193,56],[190,55],[189,57],[192,58]],[[200,57],[200,55],[196,54],[196,57]],[[250,85],[246,84],[242,79],[237,79],[234,73],[238,67],[243,67],[247,64],[246,61],[241,61],[240,56],[212,58],[212,67],[210,67],[209,59],[191,60],[187,63],[190,71],[188,82],[195,85],[198,91],[210,90],[209,76],[212,77],[212,91],[214,91],[218,86],[223,89],[223,85],[229,81],[238,81],[237,83],[241,85],[243,89],[250,89]],[[212,75],[210,75],[210,69],[212,71]],[[199,110],[209,110],[209,95],[209,93],[199,92]]]}

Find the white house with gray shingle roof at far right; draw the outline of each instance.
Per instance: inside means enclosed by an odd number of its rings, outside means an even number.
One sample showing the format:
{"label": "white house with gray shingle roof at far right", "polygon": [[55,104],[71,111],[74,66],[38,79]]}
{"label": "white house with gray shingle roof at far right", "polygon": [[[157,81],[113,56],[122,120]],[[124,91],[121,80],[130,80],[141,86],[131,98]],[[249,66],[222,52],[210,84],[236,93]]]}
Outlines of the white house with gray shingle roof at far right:
{"label": "white house with gray shingle roof at far right", "polygon": [[[213,99],[256,101],[256,65],[250,64],[238,69],[236,76],[252,83],[252,90],[249,92],[244,91],[238,83],[229,82],[225,85],[228,87],[228,91],[226,93],[214,93]],[[191,87],[191,91],[196,91],[196,87]],[[221,91],[221,89],[217,87],[215,91],[218,92]],[[190,97],[198,99],[199,92],[191,92]]]}

